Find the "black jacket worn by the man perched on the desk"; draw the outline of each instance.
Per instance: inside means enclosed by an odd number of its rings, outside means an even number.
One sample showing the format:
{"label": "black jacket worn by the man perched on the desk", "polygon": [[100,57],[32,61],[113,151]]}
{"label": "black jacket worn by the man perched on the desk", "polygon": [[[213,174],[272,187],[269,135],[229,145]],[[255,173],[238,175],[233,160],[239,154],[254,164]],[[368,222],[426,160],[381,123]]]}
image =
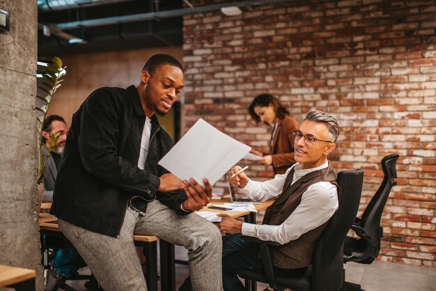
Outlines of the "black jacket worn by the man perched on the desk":
{"label": "black jacket worn by the man perched on the desk", "polygon": [[[132,196],[157,198],[178,214],[187,198],[183,190],[157,192],[157,162],[172,146],[171,138],[151,119],[145,169],[137,167],[145,113],[135,86],[99,88],[72,116],[54,186],[50,213],[95,233],[116,237]],[[145,201],[145,200],[144,200]],[[146,210],[143,202],[141,210]]]}

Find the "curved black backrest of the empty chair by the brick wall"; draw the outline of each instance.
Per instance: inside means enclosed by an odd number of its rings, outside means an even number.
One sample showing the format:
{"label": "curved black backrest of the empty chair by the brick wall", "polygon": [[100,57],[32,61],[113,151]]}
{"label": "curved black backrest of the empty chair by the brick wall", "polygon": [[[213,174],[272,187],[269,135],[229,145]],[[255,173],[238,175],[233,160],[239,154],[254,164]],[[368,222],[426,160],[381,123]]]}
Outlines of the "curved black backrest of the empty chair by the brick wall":
{"label": "curved black backrest of the empty chair by the brick wall", "polygon": [[386,205],[387,198],[391,189],[396,185],[396,161],[398,155],[388,155],[382,159],[382,169],[384,178],[382,184],[375,192],[371,201],[362,214],[360,226],[365,229],[366,235],[371,237],[373,242],[373,253],[371,257],[377,258],[380,251],[380,239],[382,239],[382,228],[380,226],[380,220],[382,219],[382,213],[384,205]]}

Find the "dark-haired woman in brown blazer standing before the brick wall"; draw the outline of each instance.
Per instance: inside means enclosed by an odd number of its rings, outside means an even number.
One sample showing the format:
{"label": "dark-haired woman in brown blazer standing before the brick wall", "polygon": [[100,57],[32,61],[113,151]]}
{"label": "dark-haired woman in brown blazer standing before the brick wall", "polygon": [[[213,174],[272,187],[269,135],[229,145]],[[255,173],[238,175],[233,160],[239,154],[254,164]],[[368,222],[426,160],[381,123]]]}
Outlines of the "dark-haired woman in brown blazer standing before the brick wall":
{"label": "dark-haired woman in brown blazer standing before the brick wall", "polygon": [[288,109],[271,94],[256,96],[248,111],[256,123],[262,121],[272,127],[270,152],[251,150],[251,153],[263,157],[258,162],[265,166],[272,165],[274,175],[285,173],[290,166],[295,164],[292,132],[299,127],[297,120],[290,117]]}

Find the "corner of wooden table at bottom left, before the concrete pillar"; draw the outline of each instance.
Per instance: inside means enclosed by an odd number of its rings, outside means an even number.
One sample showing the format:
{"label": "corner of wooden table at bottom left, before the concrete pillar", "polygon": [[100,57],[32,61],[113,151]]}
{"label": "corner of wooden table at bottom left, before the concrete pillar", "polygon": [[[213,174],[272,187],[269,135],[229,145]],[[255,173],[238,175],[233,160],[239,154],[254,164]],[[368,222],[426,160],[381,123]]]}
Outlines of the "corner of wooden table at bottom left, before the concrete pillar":
{"label": "corner of wooden table at bottom left, before the concrete pillar", "polygon": [[0,287],[10,287],[16,291],[34,291],[35,275],[35,270],[0,265]]}

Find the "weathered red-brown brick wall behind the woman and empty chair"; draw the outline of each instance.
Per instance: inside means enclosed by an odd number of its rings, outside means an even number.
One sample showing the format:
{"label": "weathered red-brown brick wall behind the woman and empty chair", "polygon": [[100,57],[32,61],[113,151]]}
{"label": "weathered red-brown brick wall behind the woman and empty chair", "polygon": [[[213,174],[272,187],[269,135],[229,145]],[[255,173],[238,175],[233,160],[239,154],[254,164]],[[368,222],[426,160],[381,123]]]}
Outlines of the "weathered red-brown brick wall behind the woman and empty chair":
{"label": "weathered red-brown brick wall behind the woman and empty chair", "polygon": [[[400,155],[380,260],[436,267],[435,2],[299,1],[243,10],[185,16],[185,129],[204,118],[267,148],[269,129],[247,113],[259,93],[277,95],[297,120],[311,109],[334,113],[341,136],[331,159],[338,171],[364,168],[361,210],[382,181],[382,157]],[[256,165],[247,173],[272,176]]]}

